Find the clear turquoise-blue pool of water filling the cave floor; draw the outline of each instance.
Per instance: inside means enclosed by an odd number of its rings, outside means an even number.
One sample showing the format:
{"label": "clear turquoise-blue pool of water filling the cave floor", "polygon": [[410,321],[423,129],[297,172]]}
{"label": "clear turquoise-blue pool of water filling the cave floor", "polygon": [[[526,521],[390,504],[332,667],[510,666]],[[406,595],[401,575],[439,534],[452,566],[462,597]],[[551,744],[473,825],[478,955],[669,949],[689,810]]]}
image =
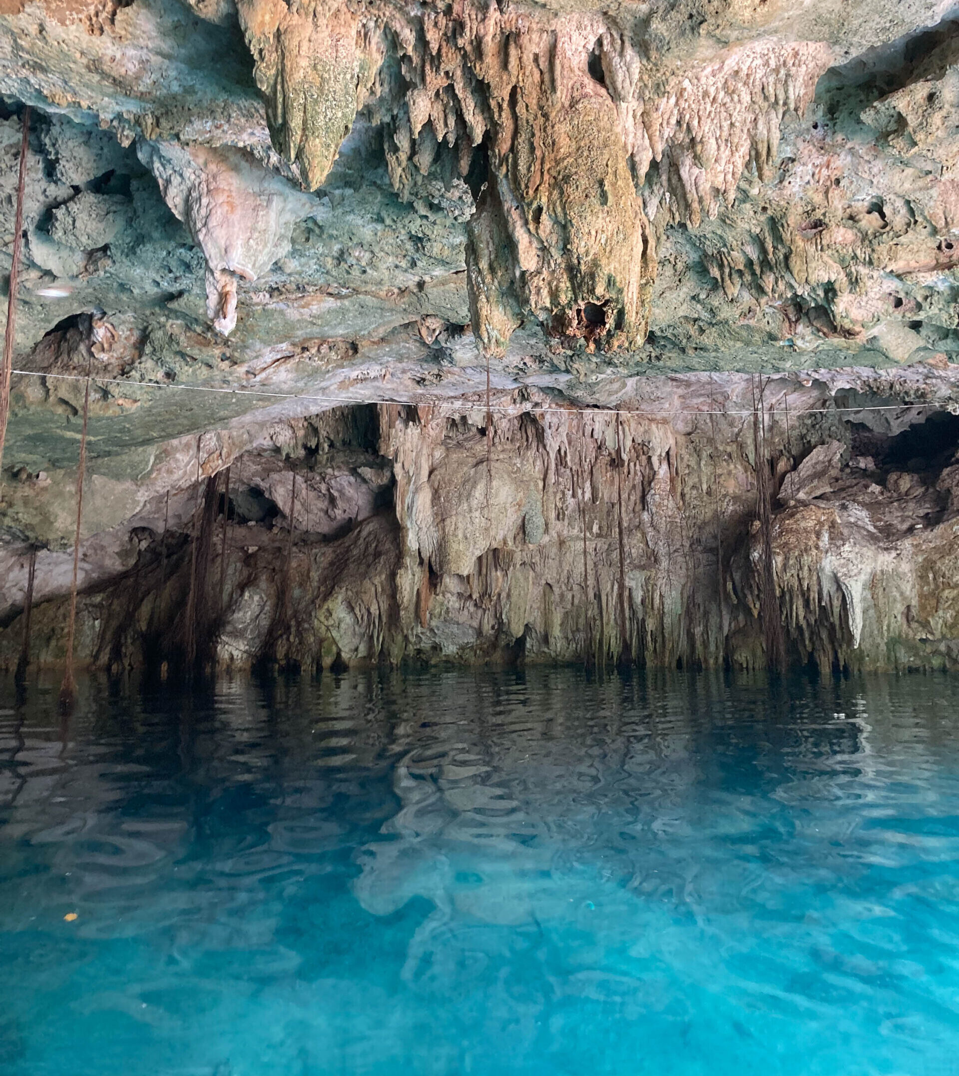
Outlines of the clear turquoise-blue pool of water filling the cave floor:
{"label": "clear turquoise-blue pool of water filling the cave floor", "polygon": [[957,680],[0,700],[5,1076],[959,1073]]}

